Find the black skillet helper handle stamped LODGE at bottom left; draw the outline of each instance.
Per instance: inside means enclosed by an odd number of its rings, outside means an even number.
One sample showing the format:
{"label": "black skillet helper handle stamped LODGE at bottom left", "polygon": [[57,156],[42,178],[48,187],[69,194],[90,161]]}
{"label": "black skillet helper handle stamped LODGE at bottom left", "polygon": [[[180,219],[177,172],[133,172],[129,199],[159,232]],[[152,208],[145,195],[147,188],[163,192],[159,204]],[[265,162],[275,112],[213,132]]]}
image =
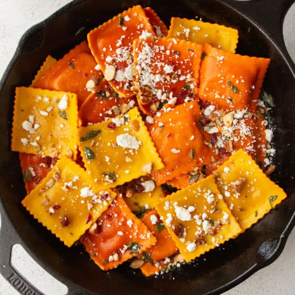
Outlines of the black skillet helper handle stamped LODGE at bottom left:
{"label": "black skillet helper handle stamped LODGE at bottom left", "polygon": [[3,204],[0,201],[1,229],[0,229],[0,273],[7,282],[20,294],[42,295],[11,265],[11,251],[14,244],[22,244],[20,236],[12,226]]}

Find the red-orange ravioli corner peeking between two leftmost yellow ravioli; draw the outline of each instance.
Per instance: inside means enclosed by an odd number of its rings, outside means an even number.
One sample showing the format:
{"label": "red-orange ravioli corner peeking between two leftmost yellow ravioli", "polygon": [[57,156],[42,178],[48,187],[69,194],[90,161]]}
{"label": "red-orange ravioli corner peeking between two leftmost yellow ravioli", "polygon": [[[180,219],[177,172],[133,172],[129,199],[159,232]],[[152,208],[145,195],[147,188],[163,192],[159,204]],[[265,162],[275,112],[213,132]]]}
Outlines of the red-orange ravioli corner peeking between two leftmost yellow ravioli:
{"label": "red-orange ravioli corner peeking between two leftmost yellow ravioli", "polygon": [[52,166],[57,161],[58,158],[43,157],[24,152],[20,153],[20,162],[28,194],[46,177],[47,173],[51,171]]}

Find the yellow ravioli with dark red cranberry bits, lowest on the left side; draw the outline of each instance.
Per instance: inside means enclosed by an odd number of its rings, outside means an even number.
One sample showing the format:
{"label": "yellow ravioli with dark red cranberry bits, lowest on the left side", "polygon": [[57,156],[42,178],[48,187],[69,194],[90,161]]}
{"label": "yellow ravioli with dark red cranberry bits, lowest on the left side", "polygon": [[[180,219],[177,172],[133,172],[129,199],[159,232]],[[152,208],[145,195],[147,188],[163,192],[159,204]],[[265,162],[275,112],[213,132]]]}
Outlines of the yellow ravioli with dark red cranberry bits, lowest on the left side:
{"label": "yellow ravioli with dark red cranberry bits, lowest on the left side", "polygon": [[70,247],[116,196],[112,190],[100,191],[83,168],[63,156],[22,204]]}

